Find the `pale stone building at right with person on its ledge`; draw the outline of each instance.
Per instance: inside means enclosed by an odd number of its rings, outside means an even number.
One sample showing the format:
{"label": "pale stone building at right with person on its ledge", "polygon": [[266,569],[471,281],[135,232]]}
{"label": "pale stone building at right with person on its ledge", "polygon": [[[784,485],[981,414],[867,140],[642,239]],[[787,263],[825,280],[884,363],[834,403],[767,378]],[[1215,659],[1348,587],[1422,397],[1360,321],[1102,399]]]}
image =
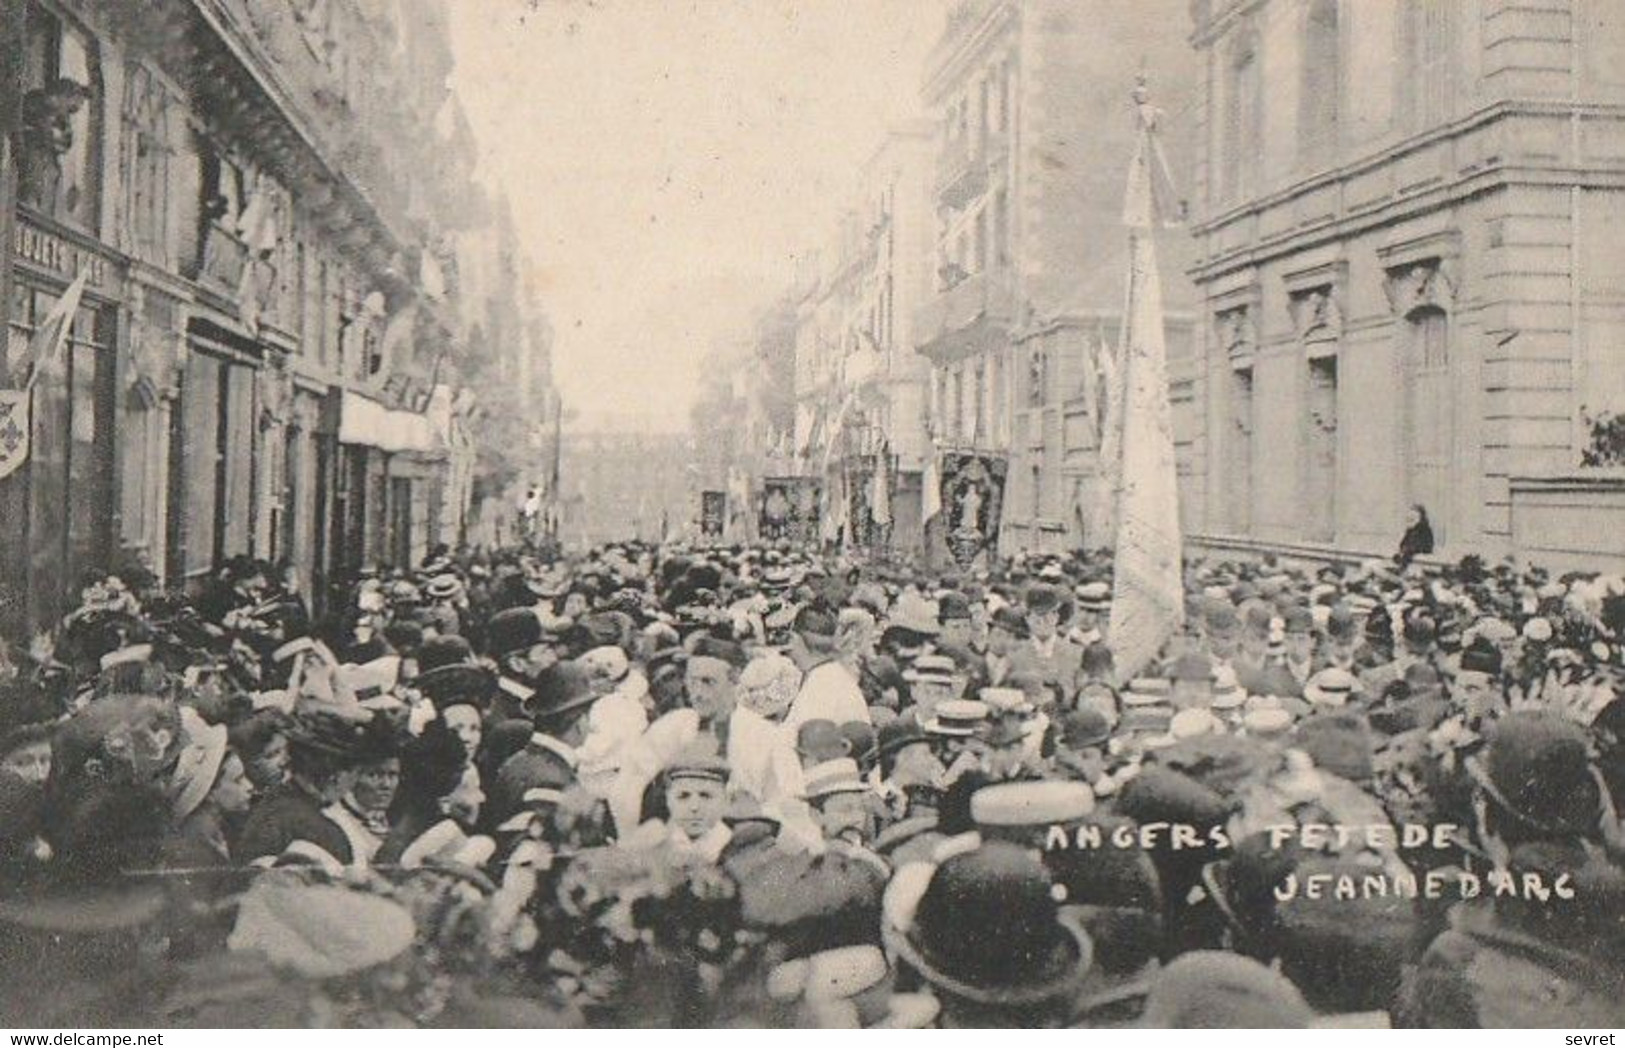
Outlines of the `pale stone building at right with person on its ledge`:
{"label": "pale stone building at right with person on its ledge", "polygon": [[1618,6],[1191,13],[1191,531],[1386,556],[1422,505],[1450,559],[1625,564]]}

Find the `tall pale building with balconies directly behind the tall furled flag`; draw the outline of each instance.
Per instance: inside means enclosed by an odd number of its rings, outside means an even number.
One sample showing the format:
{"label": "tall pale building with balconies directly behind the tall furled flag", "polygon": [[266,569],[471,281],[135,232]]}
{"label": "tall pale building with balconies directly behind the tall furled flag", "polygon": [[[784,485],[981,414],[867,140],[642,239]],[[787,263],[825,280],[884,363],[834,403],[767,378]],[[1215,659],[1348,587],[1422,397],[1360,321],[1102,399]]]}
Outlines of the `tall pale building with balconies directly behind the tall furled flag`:
{"label": "tall pale building with balconies directly behind the tall furled flag", "polygon": [[[1004,455],[1001,546],[1098,544],[1103,390],[1126,288],[1129,91],[1149,71],[1178,171],[1191,63],[1176,0],[967,0],[928,60],[931,288],[915,312],[936,448]],[[1190,354],[1186,237],[1159,244],[1170,357]],[[1183,448],[1181,458],[1190,458]]]}

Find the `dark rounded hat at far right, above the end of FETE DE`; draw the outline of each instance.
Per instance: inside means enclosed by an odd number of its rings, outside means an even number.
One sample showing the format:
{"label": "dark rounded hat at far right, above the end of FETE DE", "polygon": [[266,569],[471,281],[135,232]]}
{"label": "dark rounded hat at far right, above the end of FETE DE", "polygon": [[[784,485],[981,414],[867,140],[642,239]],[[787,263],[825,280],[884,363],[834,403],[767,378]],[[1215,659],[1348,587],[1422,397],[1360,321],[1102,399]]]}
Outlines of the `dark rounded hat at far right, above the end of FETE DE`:
{"label": "dark rounded hat at far right, above the end of FETE DE", "polygon": [[1466,762],[1497,808],[1526,827],[1586,837],[1597,827],[1601,786],[1586,733],[1545,712],[1508,713],[1488,730],[1488,746]]}

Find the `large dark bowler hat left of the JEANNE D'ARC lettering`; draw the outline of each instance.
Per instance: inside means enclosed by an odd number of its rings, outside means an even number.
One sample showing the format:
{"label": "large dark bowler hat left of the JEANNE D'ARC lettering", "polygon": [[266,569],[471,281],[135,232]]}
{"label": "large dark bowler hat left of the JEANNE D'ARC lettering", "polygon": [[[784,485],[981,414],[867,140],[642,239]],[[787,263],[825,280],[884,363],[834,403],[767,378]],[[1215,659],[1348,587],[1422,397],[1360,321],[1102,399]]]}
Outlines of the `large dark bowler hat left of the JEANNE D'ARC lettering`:
{"label": "large dark bowler hat left of the JEANNE D'ARC lettering", "polygon": [[1089,936],[1060,912],[1043,863],[1006,842],[944,860],[912,913],[894,916],[892,949],[938,991],[977,1004],[1066,999],[1094,959]]}

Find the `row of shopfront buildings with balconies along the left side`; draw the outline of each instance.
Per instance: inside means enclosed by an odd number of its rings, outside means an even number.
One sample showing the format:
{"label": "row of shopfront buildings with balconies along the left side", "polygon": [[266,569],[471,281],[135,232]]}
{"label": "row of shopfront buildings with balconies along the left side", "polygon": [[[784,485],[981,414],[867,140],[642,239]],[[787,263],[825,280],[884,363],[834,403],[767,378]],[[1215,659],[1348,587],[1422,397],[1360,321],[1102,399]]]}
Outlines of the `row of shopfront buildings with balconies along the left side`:
{"label": "row of shopfront buildings with balconies along the left side", "polygon": [[[445,244],[479,214],[439,0],[5,0],[0,21],[0,388],[34,383],[0,627],[132,561],[177,587],[283,561],[320,601],[458,541]],[[67,351],[36,361],[80,275]]]}

